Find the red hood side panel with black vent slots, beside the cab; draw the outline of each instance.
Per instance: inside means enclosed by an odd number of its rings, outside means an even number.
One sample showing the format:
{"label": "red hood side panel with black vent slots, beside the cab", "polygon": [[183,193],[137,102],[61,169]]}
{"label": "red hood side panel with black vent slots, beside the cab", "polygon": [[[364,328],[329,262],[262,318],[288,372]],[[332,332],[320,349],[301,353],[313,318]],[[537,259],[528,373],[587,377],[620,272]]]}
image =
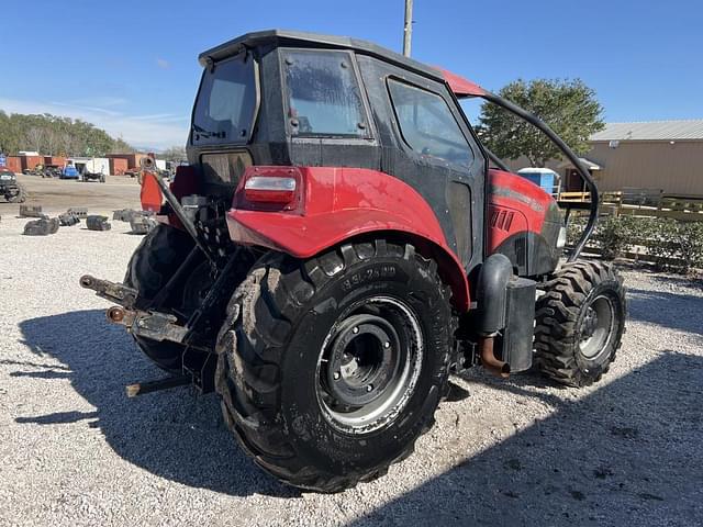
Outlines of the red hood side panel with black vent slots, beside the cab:
{"label": "red hood side panel with black vent slots, beside the cab", "polygon": [[551,197],[516,173],[489,170],[488,254],[510,236],[529,231],[540,233]]}

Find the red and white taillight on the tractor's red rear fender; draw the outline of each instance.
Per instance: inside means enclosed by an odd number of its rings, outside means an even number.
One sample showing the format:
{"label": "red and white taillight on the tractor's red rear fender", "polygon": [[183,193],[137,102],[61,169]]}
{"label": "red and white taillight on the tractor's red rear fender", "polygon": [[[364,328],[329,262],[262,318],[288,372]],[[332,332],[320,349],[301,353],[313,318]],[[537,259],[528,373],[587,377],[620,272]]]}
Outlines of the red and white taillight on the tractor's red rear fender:
{"label": "red and white taillight on the tractor's red rear fender", "polygon": [[302,173],[294,167],[248,167],[235,194],[236,209],[300,211]]}

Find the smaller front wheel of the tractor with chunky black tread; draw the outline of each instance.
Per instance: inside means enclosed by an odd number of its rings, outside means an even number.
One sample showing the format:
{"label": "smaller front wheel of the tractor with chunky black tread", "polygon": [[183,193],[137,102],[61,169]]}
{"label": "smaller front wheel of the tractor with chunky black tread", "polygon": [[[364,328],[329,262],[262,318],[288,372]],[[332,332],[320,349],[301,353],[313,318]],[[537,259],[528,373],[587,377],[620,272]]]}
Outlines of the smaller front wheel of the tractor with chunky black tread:
{"label": "smaller front wheel of the tractor with chunky black tread", "polygon": [[599,381],[625,330],[622,277],[610,264],[577,261],[560,269],[544,290],[536,306],[535,366],[561,384]]}

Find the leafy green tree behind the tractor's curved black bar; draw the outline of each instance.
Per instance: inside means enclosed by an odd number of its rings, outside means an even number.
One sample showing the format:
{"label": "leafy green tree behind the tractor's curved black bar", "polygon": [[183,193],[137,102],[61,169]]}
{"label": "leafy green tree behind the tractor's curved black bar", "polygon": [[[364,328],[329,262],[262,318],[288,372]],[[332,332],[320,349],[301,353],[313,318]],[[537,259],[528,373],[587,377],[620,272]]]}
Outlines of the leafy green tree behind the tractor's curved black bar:
{"label": "leafy green tree behind the tractor's curved black bar", "polygon": [[[537,115],[579,155],[589,150],[591,134],[605,126],[603,106],[580,79],[518,79],[502,88],[500,96]],[[561,159],[560,150],[545,134],[493,103],[481,105],[477,132],[481,142],[503,159],[525,156],[534,167]]]}

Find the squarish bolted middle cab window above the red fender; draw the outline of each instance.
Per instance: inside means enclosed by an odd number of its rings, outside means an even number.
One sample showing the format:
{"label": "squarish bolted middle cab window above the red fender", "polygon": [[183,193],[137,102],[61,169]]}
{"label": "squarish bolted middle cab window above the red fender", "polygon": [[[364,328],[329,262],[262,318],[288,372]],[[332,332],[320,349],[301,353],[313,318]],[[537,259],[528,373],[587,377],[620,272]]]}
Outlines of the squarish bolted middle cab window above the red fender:
{"label": "squarish bolted middle cab window above the red fender", "polygon": [[343,52],[283,54],[288,120],[293,135],[367,137],[352,58]]}

